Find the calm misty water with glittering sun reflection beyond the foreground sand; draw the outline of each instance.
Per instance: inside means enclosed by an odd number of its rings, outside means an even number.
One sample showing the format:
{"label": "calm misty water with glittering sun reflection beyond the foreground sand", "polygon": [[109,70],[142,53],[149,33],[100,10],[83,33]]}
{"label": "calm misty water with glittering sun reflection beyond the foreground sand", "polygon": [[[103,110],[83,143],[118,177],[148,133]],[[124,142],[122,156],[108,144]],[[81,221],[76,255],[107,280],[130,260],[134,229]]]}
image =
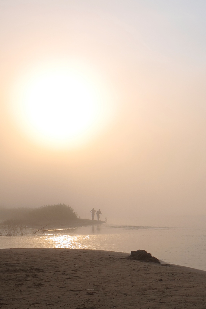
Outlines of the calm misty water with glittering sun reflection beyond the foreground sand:
{"label": "calm misty water with glittering sun reflection beyond the foreground sand", "polygon": [[118,252],[143,249],[168,263],[206,270],[206,229],[96,226],[52,230],[46,234],[1,236],[0,248],[83,248]]}

